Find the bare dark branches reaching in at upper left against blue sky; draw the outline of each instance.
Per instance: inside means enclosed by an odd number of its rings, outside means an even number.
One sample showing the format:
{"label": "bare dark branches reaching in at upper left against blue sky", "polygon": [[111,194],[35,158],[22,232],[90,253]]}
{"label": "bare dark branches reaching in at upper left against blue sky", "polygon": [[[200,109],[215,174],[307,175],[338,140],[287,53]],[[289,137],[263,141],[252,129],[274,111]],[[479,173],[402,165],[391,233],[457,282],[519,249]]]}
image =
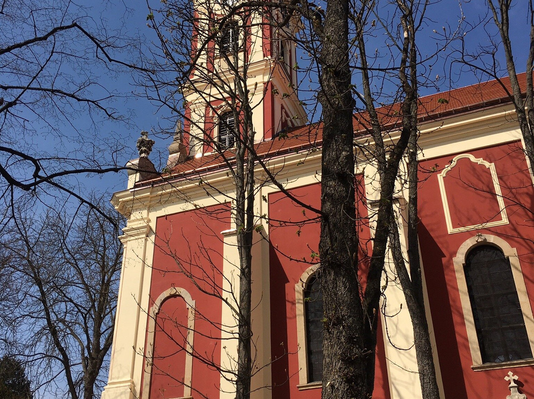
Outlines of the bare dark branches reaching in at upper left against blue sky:
{"label": "bare dark branches reaching in at upper left against blue sky", "polygon": [[130,116],[113,108],[124,94],[109,87],[127,71],[114,57],[127,59],[129,40],[98,12],[69,0],[0,4],[0,196],[8,206],[25,191],[49,203],[44,197],[61,191],[88,202],[76,178],[122,170],[124,145],[102,127]]}

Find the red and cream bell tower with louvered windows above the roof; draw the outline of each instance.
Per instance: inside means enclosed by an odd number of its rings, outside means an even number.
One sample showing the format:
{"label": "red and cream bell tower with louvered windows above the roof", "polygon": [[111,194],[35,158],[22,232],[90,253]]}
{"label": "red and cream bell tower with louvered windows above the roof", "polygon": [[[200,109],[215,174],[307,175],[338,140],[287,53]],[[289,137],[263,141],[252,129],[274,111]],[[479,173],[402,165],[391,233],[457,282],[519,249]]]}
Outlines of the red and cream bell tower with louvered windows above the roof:
{"label": "red and cream bell tower with louvered windows above the roof", "polygon": [[[297,93],[294,18],[281,10],[197,0],[194,60],[184,85],[184,144],[190,156],[232,148],[244,124],[255,141],[307,123]],[[252,121],[245,121],[247,102]],[[248,116],[250,118],[250,115]]]}

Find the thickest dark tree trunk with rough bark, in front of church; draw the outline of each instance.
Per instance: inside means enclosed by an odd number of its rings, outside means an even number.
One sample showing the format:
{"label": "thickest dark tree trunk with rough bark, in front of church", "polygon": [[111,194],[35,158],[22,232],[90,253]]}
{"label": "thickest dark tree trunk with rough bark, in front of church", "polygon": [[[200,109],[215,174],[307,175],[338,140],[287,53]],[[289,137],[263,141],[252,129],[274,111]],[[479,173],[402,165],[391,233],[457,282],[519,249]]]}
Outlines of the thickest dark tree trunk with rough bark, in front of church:
{"label": "thickest dark tree trunk with rough bark, in front of church", "polygon": [[328,1],[320,54],[323,106],[320,280],[324,306],[323,398],[367,399],[357,276],[348,1]]}

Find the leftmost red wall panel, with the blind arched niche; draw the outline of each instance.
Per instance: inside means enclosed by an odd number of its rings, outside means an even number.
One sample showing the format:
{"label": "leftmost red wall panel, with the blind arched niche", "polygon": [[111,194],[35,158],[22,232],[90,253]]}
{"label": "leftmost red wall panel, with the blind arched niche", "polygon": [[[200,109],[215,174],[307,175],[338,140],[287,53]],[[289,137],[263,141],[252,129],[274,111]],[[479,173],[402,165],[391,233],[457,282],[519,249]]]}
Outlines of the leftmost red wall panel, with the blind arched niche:
{"label": "leftmost red wall panel, with the blind arched niche", "polygon": [[[191,382],[191,395],[194,399],[219,397],[220,374],[209,364],[221,364],[222,306],[217,293],[221,292],[223,282],[221,232],[229,227],[230,211],[226,204],[160,217],[156,222],[150,306],[162,292],[172,287],[185,289],[196,302],[195,357]],[[215,296],[210,293],[215,293]],[[183,386],[169,381],[179,381],[184,374],[183,363],[180,363],[185,359],[183,350],[180,350],[184,328],[178,324],[186,323],[185,312],[181,298],[171,298],[162,304],[158,318],[166,318],[168,328],[164,332],[161,328],[156,328],[155,342],[158,346],[154,348],[154,352],[156,355],[167,354],[170,359],[160,356],[154,363],[160,368],[168,368],[171,376],[161,372],[153,374],[151,392],[156,396],[151,395],[151,399],[182,396],[179,392],[183,393]],[[174,333],[175,336],[171,338],[165,332]],[[171,365],[174,360],[179,363],[175,367]],[[158,396],[158,387],[165,384],[169,385],[172,394],[169,391],[164,396]]]}

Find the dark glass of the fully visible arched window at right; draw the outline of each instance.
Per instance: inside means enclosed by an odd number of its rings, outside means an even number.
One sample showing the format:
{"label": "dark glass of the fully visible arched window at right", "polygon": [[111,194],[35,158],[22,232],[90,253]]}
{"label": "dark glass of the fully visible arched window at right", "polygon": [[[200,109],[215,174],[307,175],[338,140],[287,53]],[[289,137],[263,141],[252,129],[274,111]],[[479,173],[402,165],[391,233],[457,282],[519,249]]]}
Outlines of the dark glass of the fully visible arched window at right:
{"label": "dark glass of the fully visible arched window at right", "polygon": [[490,245],[467,254],[465,275],[482,363],[532,357],[527,329],[504,253]]}

